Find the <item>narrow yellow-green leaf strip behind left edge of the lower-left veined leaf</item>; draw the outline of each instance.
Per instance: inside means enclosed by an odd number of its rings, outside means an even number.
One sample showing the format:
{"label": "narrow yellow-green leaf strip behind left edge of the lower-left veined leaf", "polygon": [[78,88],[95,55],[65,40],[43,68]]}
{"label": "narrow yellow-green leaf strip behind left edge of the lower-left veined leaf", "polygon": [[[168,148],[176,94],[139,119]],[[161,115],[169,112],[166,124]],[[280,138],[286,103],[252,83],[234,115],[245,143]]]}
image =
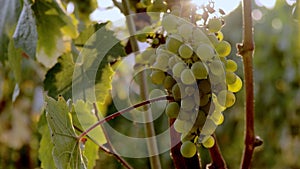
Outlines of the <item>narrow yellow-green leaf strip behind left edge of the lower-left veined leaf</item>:
{"label": "narrow yellow-green leaf strip behind left edge of the lower-left veined leaf", "polygon": [[40,117],[38,128],[39,133],[42,135],[39,146],[39,159],[41,160],[41,168],[54,169],[56,167],[52,157],[53,144],[49,144],[51,143],[51,135],[47,125],[46,113],[43,113]]}

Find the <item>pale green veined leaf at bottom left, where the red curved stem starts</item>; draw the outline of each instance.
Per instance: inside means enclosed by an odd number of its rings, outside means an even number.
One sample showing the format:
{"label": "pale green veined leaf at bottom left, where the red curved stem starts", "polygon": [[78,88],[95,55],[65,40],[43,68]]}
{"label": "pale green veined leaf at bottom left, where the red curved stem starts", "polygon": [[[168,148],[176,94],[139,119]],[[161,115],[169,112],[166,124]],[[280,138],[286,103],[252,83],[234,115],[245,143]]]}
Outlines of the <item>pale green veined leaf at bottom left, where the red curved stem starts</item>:
{"label": "pale green veined leaf at bottom left, where the red curved stem starts", "polygon": [[86,168],[85,157],[79,146],[72,117],[66,101],[45,96],[46,118],[54,145],[52,156],[57,168]]}

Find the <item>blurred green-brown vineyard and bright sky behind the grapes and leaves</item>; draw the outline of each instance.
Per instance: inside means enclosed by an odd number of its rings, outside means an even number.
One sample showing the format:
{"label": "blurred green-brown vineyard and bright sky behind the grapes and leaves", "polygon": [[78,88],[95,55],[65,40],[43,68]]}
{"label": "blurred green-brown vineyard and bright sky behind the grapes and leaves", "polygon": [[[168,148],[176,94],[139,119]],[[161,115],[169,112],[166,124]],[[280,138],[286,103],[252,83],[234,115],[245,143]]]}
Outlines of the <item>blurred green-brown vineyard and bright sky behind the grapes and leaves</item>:
{"label": "blurred green-brown vineyard and bright sky behind the grapes and leaves", "polygon": [[[107,1],[66,1],[85,14],[82,18],[98,22],[122,17],[118,7]],[[135,3],[136,1],[132,1]],[[138,2],[138,1],[137,1]],[[256,0],[253,4],[254,20],[254,76],[255,76],[255,132],[264,143],[255,150],[253,169],[300,169],[300,14],[292,0]],[[1,1],[2,3],[2,1]],[[220,2],[221,3],[221,2]],[[298,2],[299,3],[299,2]],[[225,40],[232,44],[229,56],[238,65],[243,78],[242,59],[236,56],[235,44],[242,41],[242,9],[239,1],[224,6],[227,15],[223,28]],[[218,5],[218,1],[216,1]],[[298,5],[299,6],[299,5]],[[220,8],[223,8],[219,4]],[[19,4],[19,11],[21,4]],[[112,15],[115,14],[115,15]],[[91,15],[90,15],[91,14]],[[12,18],[11,24],[15,18]],[[122,32],[122,24],[113,25]],[[1,54],[1,53],[0,53]],[[2,55],[2,54],[1,54]],[[38,121],[43,109],[43,80],[45,68],[30,59],[22,64],[22,82],[16,86],[9,67],[0,62],[0,168],[39,168]],[[114,113],[108,104],[107,114]],[[225,122],[217,128],[217,139],[230,169],[238,168],[243,151],[244,89],[237,93],[237,102],[224,112]],[[165,117],[155,121],[158,133],[164,129]],[[138,135],[124,129],[125,119],[110,124],[128,135]],[[140,129],[143,130],[143,129]],[[130,147],[129,147],[130,148]],[[210,162],[208,152],[200,150],[202,164]],[[160,155],[163,168],[173,168],[169,152]],[[148,159],[126,158],[139,169],[150,168]],[[113,157],[99,151],[96,168],[118,169],[122,165]]]}

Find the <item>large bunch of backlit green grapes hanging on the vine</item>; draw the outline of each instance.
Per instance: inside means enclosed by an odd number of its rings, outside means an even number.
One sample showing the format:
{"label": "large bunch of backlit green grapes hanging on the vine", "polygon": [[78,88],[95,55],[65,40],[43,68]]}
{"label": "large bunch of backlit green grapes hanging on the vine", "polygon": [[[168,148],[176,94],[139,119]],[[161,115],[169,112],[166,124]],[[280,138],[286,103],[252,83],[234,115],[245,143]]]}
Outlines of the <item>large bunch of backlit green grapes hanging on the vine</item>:
{"label": "large bunch of backlit green grapes hanging on the vine", "polygon": [[165,43],[148,48],[136,62],[148,64],[152,83],[163,85],[173,96],[165,113],[176,119],[181,154],[190,158],[196,154],[197,144],[206,148],[214,145],[211,135],[223,123],[222,112],[235,103],[234,93],[241,89],[242,81],[234,73],[236,62],[226,58],[231,45],[223,40],[223,19],[210,17],[197,25],[175,13],[173,10],[162,18]]}

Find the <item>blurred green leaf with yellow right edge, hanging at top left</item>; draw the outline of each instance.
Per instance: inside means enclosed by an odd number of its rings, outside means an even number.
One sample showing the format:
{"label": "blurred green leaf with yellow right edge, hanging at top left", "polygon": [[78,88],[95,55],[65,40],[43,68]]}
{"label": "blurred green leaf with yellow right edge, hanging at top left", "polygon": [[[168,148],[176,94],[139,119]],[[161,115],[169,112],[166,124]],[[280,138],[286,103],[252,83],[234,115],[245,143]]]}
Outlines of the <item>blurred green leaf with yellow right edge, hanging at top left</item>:
{"label": "blurred green leaf with yellow right edge, hanging at top left", "polygon": [[32,9],[39,37],[37,60],[52,67],[62,53],[70,50],[70,41],[67,39],[78,36],[77,20],[67,15],[54,0],[35,1]]}

